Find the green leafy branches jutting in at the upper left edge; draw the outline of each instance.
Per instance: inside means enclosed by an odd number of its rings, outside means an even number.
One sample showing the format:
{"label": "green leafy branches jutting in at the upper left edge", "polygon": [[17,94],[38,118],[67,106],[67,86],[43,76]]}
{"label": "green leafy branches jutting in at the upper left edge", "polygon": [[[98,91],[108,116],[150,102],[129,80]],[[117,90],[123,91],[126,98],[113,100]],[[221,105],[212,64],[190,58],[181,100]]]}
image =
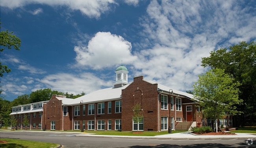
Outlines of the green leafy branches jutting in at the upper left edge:
{"label": "green leafy branches jutting in at the upper left edge", "polygon": [[[4,51],[4,47],[6,47],[7,49],[13,48],[19,51],[20,43],[21,40],[17,36],[15,36],[13,32],[9,32],[8,30],[0,32],[0,52]],[[9,73],[10,71],[11,69],[8,69],[7,65],[2,65],[2,63],[0,62],[0,77],[3,77],[5,72]]]}

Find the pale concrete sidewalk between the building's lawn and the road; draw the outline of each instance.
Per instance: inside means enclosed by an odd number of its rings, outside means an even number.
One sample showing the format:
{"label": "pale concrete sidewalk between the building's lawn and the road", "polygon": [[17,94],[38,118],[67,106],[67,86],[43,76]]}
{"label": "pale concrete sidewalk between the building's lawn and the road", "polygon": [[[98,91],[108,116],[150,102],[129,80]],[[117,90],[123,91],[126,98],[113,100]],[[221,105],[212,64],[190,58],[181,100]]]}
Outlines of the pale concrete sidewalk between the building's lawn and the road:
{"label": "pale concrete sidewalk between the building's lawn and the road", "polygon": [[157,135],[157,136],[121,136],[121,135],[94,135],[94,134],[76,134],[76,136],[93,137],[118,137],[118,138],[145,138],[145,139],[256,139],[256,134],[236,133],[236,135],[195,135],[191,132],[182,132],[175,134]]}

